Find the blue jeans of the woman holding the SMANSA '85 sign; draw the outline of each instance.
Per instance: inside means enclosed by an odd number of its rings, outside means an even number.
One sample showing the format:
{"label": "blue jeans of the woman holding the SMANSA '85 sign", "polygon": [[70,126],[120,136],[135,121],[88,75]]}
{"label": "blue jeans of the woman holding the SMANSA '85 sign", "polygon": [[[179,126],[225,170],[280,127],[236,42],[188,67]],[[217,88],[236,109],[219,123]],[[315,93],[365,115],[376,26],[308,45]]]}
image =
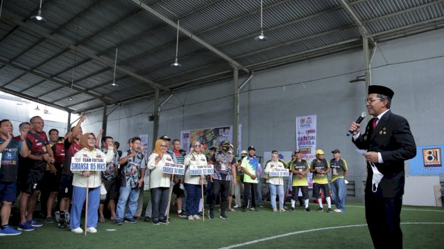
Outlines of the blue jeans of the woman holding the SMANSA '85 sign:
{"label": "blue jeans of the woman holding the SMANSA '85 sign", "polygon": [[[71,229],[80,228],[80,215],[82,214],[83,203],[86,199],[86,187],[73,186],[72,192],[72,206],[70,214],[69,227]],[[87,216],[87,228],[97,228],[97,221],[99,216],[97,210],[99,210],[100,203],[100,187],[90,188],[88,192],[88,216]]]}

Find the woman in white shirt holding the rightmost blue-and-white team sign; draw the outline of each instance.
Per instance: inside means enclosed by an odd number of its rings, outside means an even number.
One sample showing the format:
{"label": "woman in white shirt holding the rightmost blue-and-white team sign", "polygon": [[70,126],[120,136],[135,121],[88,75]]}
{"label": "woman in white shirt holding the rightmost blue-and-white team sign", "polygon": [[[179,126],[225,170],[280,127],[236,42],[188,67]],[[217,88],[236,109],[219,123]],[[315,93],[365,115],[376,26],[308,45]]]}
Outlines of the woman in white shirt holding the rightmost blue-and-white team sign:
{"label": "woman in white shirt holding the rightmost blue-and-white team sign", "polygon": [[[275,171],[275,169],[284,169],[284,164],[278,160],[278,153],[273,152],[271,154],[271,160],[265,166],[265,174],[270,174],[270,172]],[[279,191],[279,208],[280,211],[284,210],[284,178],[282,176],[270,176],[266,183],[268,184],[268,189],[270,190],[270,200],[273,212],[278,212],[276,208],[276,193]],[[297,193],[296,193],[297,194]]]}

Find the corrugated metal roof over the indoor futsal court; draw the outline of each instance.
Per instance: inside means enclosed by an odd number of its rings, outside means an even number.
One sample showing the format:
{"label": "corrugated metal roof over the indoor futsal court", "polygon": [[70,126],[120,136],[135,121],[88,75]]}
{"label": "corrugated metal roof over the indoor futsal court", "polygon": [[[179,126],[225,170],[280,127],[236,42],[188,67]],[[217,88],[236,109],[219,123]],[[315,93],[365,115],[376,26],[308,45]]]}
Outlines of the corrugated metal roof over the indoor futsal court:
{"label": "corrugated metal roof over the indoor futsal court", "polygon": [[[397,37],[400,30],[420,32],[444,25],[444,0],[346,2],[375,41]],[[153,93],[149,81],[175,89],[232,77],[231,60],[248,70],[262,70],[355,48],[361,40],[357,24],[339,0],[265,0],[267,42],[254,39],[260,31],[258,0],[142,3],[148,8],[130,0],[43,1],[46,23],[36,24],[30,17],[37,13],[38,1],[4,1],[0,90],[83,111],[100,107],[101,99],[117,103]],[[171,20],[171,25],[153,12]],[[180,33],[182,66],[171,67],[178,19],[193,37]],[[69,44],[77,45],[77,51]],[[119,86],[111,86],[116,48],[117,65],[139,76],[117,70]]]}

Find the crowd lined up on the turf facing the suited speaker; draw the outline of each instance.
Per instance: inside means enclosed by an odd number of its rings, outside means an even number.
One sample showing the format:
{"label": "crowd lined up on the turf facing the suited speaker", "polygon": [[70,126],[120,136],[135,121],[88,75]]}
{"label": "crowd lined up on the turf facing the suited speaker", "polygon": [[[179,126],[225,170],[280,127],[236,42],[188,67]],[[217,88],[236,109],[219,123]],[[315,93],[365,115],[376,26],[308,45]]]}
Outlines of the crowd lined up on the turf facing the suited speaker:
{"label": "crowd lined up on the turf facing the suited speaker", "polygon": [[[330,196],[326,176],[330,167],[333,169],[332,186],[335,181],[339,183],[332,187],[337,208],[335,211],[344,210],[345,189],[343,181],[337,179],[346,176],[347,164],[340,158],[337,149],[332,151],[334,158],[330,163],[323,159],[324,152],[318,149],[316,160],[311,165],[302,159],[299,150],[295,151],[289,162],[279,159],[278,151],[273,151],[271,160],[262,167],[253,146],[248,147],[247,151],[241,151],[237,158],[228,140],[221,141],[219,149],[211,147],[208,154],[200,141],[196,140],[191,142],[187,153],[182,149],[180,140],[171,141],[168,136],[162,136],[155,142],[152,154],[147,157],[141,138],[130,138],[128,150],[119,151],[119,143],[114,142],[112,137],[101,138],[103,131],[99,131],[97,136],[94,133],[83,133],[81,124],[85,119],[85,116],[81,116],[76,126],[63,137],[59,136],[57,129],[51,129],[49,136],[46,136],[43,131],[44,120],[40,116],[20,124],[20,135],[16,137],[12,136],[10,120],[0,121],[1,235],[33,231],[44,223],[57,223],[59,228],[69,227],[72,232],[82,233],[80,216],[85,201],[87,232],[97,231],[97,224],[106,220],[105,211],[109,211],[109,219],[116,225],[137,223],[142,218],[153,225],[168,223],[171,192],[178,209],[176,216],[195,221],[205,215],[204,187],[206,203],[210,206],[208,218],[214,219],[214,209],[219,206],[219,217],[228,219],[227,212],[236,212],[237,208],[246,212],[263,207],[262,181],[268,185],[273,211],[278,212],[278,198],[279,210],[284,212],[287,210],[284,205],[284,177],[269,176],[270,172],[279,168],[289,169],[293,174],[293,193],[296,194],[291,199],[290,211],[295,210],[299,190],[302,192],[305,210],[310,211],[308,172],[314,173],[314,195],[320,205],[318,211],[323,211],[319,191],[322,188]],[[71,158],[104,158],[106,169],[71,171]],[[185,174],[164,174],[162,167],[166,163],[185,165]],[[191,167],[199,165],[214,165],[214,174],[191,174]],[[145,175],[149,179],[151,199],[142,216]],[[20,218],[16,230],[9,225],[9,216],[11,206],[20,194]],[[44,223],[33,216],[39,196]],[[326,199],[327,212],[331,212],[330,197]]]}

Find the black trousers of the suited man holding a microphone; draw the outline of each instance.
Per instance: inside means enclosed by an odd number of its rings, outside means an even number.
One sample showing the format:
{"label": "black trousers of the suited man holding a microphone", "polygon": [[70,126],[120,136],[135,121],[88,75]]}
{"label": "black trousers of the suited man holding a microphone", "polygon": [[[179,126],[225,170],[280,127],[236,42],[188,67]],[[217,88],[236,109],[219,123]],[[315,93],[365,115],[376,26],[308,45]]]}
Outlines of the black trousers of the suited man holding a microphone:
{"label": "black trousers of the suited man holding a microphone", "polygon": [[366,193],[366,220],[375,248],[402,248],[402,197],[382,198]]}

